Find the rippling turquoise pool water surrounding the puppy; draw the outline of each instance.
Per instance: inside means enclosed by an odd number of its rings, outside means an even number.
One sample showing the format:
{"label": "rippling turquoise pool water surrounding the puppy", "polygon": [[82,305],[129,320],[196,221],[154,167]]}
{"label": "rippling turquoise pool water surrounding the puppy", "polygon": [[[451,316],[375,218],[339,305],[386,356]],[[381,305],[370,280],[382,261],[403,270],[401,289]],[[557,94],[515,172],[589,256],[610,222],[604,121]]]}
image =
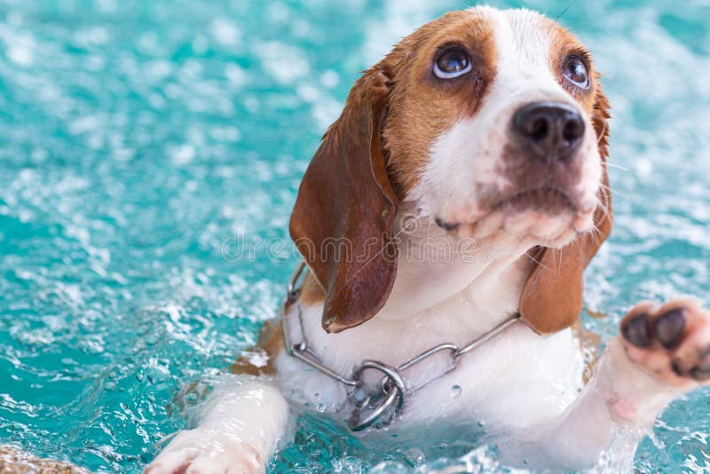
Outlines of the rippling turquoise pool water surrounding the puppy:
{"label": "rippling turquoise pool water surrounding the puppy", "polygon": [[[185,426],[181,385],[231,364],[276,312],[295,260],[265,242],[288,239],[357,72],[470,4],[0,0],[0,444],[145,466]],[[580,0],[562,21],[614,107],[616,226],[586,295],[608,316],[585,319],[610,335],[639,299],[710,289],[710,5]],[[254,242],[237,261],[235,239]],[[639,471],[708,469],[708,395],[665,412]],[[272,470],[497,469],[485,447],[407,447],[421,446],[366,449],[304,417]]]}

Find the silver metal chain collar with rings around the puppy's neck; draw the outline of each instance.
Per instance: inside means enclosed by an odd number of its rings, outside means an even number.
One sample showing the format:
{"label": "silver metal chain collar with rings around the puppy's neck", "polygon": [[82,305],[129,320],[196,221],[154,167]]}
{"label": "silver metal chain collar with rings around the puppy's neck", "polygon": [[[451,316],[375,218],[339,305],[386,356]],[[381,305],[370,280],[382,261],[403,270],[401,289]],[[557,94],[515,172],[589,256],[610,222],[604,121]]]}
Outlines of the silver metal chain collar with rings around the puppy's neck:
{"label": "silver metal chain collar with rings around the puppy's neck", "polygon": [[[392,367],[378,360],[366,359],[363,360],[359,366],[355,367],[351,375],[341,375],[335,372],[335,370],[323,365],[318,357],[318,354],[313,352],[309,347],[304,332],[303,313],[300,304],[297,306],[298,323],[296,325],[296,330],[301,334],[297,342],[294,342],[294,339],[291,337],[290,331],[293,328],[289,328],[287,310],[288,306],[295,304],[298,299],[300,288],[296,288],[296,284],[298,283],[301,275],[304,273],[304,269],[305,264],[304,262],[301,262],[288,283],[288,294],[286,301],[284,302],[284,321],[282,324],[283,340],[286,346],[286,352],[288,352],[288,355],[303,361],[305,364],[315,368],[320,373],[329,376],[337,382],[343,383],[343,385],[351,389],[351,391],[348,392],[348,399],[350,399],[354,404],[355,409],[352,411],[352,415],[348,419],[348,428],[352,431],[365,430],[375,423],[378,426],[386,426],[395,418],[398,411],[404,407],[406,397],[413,395],[414,391],[421,389],[423,386],[453,371],[457,367],[458,361],[461,357],[469,352],[472,352],[479,345],[485,344],[487,341],[493,339],[493,337],[498,336],[506,328],[509,328],[509,326],[513,325],[520,319],[519,314],[514,314],[508,320],[503,321],[500,325],[466,345],[435,345],[428,351],[420,353],[398,367]],[[407,387],[405,380],[402,377],[402,373],[408,368],[414,367],[422,361],[438,354],[438,352],[448,352],[450,357],[448,366],[440,374],[431,377],[425,382],[419,383],[414,387]],[[380,372],[383,375],[376,391],[368,392],[365,387],[363,375],[368,370]]]}

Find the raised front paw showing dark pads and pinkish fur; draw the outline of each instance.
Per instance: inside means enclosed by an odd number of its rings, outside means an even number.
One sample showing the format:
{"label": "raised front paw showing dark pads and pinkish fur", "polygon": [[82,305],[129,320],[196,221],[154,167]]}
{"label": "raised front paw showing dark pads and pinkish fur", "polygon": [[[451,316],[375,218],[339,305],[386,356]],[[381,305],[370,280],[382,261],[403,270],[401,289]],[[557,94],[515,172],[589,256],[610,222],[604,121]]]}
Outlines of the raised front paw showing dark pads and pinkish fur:
{"label": "raised front paw showing dark pads and pinkish fur", "polygon": [[710,383],[710,312],[697,301],[636,304],[621,321],[629,359],[669,385]]}

